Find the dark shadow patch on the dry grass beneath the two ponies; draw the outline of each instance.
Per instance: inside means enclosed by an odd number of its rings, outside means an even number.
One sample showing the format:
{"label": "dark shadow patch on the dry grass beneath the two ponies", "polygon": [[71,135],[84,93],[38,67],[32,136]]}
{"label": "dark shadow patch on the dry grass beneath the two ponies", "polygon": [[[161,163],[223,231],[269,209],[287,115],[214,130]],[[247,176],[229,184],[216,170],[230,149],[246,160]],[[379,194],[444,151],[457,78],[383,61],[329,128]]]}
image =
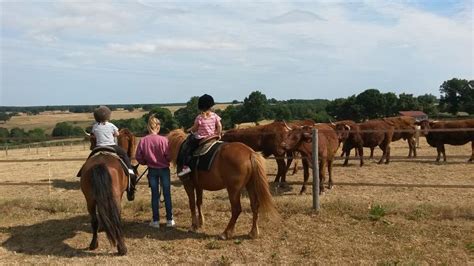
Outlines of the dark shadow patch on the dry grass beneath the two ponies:
{"label": "dark shadow patch on the dry grass beneath the two ponies", "polygon": [[[204,233],[188,232],[181,228],[149,227],[143,222],[123,222],[125,243],[127,239],[152,238],[161,241],[177,239],[206,239],[212,237]],[[78,232],[86,232],[89,237],[82,248],[75,248],[65,243],[66,240],[76,236]],[[97,255],[113,256],[115,253],[89,251],[87,248],[92,239],[92,229],[88,215],[79,215],[67,219],[47,220],[33,225],[19,225],[13,227],[0,227],[0,233],[9,235],[1,246],[11,252],[28,255],[50,255],[58,257],[90,257]],[[99,245],[109,245],[105,233],[99,239]],[[114,252],[115,248],[111,248]]]}

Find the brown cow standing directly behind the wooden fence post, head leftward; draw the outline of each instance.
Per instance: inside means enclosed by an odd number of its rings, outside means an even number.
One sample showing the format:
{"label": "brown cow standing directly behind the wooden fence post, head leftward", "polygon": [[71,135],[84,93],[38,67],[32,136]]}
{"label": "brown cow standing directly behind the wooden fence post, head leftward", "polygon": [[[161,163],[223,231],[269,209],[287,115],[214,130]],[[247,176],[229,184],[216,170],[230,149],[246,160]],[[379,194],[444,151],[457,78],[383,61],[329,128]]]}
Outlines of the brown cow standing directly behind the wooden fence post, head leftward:
{"label": "brown cow standing directly behind the wooden fence post, head leftward", "polygon": [[[328,188],[333,186],[332,182],[332,165],[339,140],[334,129],[328,124],[315,124],[313,127],[318,131],[318,160],[319,160],[319,192],[324,192],[324,180],[326,179],[326,167],[329,173]],[[300,126],[288,132],[282,146],[287,150],[297,150],[303,157],[304,183],[301,187],[300,194],[306,191],[306,183],[309,177],[308,167],[312,168],[312,130],[311,126]]]}

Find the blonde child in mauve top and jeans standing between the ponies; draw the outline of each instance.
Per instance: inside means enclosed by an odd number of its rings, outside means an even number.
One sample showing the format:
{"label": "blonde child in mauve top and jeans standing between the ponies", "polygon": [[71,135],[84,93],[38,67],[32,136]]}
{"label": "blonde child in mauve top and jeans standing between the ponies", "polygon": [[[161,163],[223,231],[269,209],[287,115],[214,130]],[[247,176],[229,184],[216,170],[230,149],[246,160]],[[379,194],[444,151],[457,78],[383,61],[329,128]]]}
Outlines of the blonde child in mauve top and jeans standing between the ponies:
{"label": "blonde child in mauve top and jeans standing between the ponies", "polygon": [[158,135],[160,120],[154,115],[148,118],[148,135],[140,139],[135,158],[140,164],[148,166],[148,182],[151,188],[151,209],[153,213],[150,226],[160,227],[160,182],[166,207],[166,226],[173,227],[173,207],[171,204],[170,158],[169,145],[166,137]]}

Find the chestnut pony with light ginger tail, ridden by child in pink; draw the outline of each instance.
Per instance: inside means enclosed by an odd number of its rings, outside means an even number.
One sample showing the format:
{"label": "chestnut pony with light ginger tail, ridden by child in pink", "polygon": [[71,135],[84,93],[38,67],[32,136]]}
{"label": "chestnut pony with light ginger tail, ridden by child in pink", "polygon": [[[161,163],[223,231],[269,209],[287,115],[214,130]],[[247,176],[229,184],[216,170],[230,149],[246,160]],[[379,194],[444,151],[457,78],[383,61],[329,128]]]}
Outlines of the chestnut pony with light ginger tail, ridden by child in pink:
{"label": "chestnut pony with light ginger tail, ridden by child in pink", "polygon": [[[174,164],[185,139],[186,133],[182,129],[175,129],[168,135],[170,157]],[[270,218],[278,217],[268,187],[265,159],[243,143],[222,144],[209,171],[195,170],[187,177],[182,181],[191,209],[190,231],[196,231],[204,222],[201,212],[204,189],[211,191],[227,189],[229,194],[232,217],[220,235],[221,239],[229,239],[234,234],[235,223],[242,211],[240,196],[244,187],[247,189],[253,214],[252,229],[249,233],[251,238],[256,238],[259,234],[257,225],[259,210],[269,214]],[[198,215],[196,215],[196,203]]]}

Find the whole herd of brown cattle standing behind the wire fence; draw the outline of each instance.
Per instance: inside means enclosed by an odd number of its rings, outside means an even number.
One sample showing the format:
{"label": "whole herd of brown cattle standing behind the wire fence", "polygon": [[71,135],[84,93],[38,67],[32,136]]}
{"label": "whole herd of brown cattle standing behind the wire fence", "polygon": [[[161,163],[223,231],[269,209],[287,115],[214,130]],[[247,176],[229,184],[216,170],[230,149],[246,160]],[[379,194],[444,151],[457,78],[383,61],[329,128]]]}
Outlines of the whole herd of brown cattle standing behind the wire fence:
{"label": "whole herd of brown cattle standing behind the wire fence", "polygon": [[[309,159],[312,157],[312,129],[317,128],[320,192],[323,192],[326,168],[329,173],[328,188],[332,187],[332,166],[341,144],[342,155],[346,156],[343,165],[347,165],[350,151],[355,149],[360,158],[360,166],[362,166],[364,164],[363,147],[371,149],[372,157],[373,150],[377,146],[383,152],[379,164],[384,160],[388,164],[390,162],[390,143],[400,139],[408,142],[408,156],[416,157],[417,125],[420,126],[421,133],[426,137],[428,144],[436,147],[438,151],[436,161],[440,160],[441,153],[446,161],[444,144],[464,145],[468,142],[472,144],[469,162],[474,160],[474,119],[416,122],[413,117],[400,116],[368,120],[362,123],[350,120],[327,124],[315,124],[312,120],[292,123],[275,121],[267,125],[228,130],[222,136],[222,140],[243,142],[255,151],[262,152],[264,156],[275,156],[278,166],[275,182],[281,182],[281,184],[286,182],[286,172],[291,164],[292,154],[299,152],[303,157],[303,176],[306,183],[309,177],[308,168],[312,167]],[[285,163],[285,155],[289,157],[287,163]],[[306,187],[303,185],[300,193],[303,193],[305,189]]]}

